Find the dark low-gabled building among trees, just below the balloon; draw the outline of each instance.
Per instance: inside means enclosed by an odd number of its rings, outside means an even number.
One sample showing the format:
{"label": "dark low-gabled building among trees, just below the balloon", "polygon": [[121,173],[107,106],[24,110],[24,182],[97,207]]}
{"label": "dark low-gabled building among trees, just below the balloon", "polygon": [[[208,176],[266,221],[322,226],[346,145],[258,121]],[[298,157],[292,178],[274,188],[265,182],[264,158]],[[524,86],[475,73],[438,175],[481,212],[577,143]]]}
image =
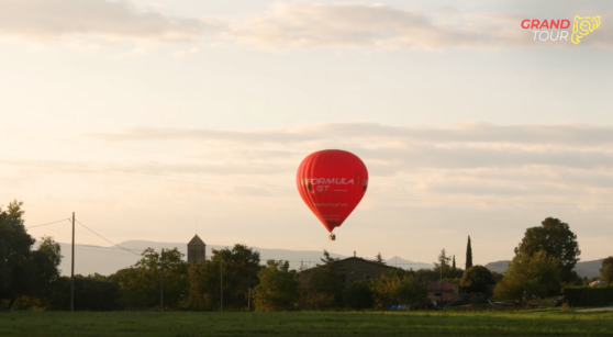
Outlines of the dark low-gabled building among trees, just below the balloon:
{"label": "dark low-gabled building among trees, just below the balloon", "polygon": [[[332,263],[334,265],[334,270],[345,280],[346,285],[356,281],[376,279],[384,271],[395,269],[394,267],[356,257],[355,254],[350,258],[336,260]],[[310,270],[313,269],[306,269],[302,273],[308,276]]]}

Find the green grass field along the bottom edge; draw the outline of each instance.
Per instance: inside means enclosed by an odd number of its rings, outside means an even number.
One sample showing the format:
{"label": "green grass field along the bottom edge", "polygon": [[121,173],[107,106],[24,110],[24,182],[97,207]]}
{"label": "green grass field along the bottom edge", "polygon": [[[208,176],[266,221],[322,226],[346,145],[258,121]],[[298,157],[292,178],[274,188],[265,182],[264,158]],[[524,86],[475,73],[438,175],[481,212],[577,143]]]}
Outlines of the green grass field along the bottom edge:
{"label": "green grass field along the bottom edge", "polygon": [[0,336],[613,336],[613,313],[0,313]]}

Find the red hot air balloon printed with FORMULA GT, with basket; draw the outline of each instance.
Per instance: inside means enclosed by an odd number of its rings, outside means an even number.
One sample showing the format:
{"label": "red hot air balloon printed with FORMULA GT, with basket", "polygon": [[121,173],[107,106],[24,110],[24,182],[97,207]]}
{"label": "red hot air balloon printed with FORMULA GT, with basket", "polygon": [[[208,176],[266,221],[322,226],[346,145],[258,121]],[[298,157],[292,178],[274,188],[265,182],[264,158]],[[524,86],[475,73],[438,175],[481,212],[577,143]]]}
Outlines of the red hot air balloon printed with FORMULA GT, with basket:
{"label": "red hot air balloon printed with FORMULA GT, with basket", "polygon": [[330,232],[352,214],[366,193],[368,170],[354,154],[325,149],[309,155],[298,168],[298,191],[304,203]]}

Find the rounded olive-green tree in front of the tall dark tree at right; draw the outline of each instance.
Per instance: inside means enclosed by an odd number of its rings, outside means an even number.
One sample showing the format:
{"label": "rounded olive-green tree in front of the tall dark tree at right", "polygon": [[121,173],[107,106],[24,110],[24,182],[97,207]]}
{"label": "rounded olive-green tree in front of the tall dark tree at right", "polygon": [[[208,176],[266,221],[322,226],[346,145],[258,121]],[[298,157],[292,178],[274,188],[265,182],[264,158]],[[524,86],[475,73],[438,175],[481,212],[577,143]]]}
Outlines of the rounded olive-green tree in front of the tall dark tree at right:
{"label": "rounded olive-green tree in front of the tall dark tree at right", "polygon": [[516,255],[502,280],[494,288],[494,297],[525,301],[559,293],[561,287],[559,260],[545,250],[532,256]]}

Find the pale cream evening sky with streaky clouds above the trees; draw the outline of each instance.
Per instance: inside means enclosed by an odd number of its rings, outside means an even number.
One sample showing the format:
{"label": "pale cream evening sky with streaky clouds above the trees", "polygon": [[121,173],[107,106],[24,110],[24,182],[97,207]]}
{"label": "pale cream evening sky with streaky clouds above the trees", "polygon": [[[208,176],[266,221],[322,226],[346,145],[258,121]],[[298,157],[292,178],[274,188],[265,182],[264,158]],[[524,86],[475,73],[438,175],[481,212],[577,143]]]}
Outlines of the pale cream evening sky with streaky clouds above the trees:
{"label": "pale cream evening sky with streaky clouds above the trees", "polygon": [[[121,243],[511,259],[548,217],[613,255],[610,1],[0,0],[0,204]],[[600,15],[570,41],[523,20]],[[572,33],[572,27],[567,30]],[[335,231],[309,154],[369,190]],[[63,222],[30,228],[70,240]],[[77,241],[109,245],[83,227]]]}

